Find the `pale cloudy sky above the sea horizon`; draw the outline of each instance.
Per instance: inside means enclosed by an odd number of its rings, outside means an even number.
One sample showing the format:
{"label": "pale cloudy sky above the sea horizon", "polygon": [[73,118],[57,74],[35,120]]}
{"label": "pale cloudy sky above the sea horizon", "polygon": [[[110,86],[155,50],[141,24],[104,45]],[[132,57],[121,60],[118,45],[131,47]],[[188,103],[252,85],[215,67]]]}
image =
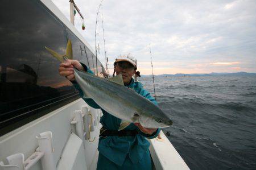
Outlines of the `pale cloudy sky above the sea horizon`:
{"label": "pale cloudy sky above the sea horizon", "polygon": [[[52,0],[70,20],[69,1]],[[85,16],[85,30],[75,27],[95,49],[96,15],[101,0],[75,0]],[[256,73],[256,1],[103,1],[98,14],[98,58],[110,73],[119,55],[131,53],[138,71],[151,74]],[[149,45],[150,44],[150,45]]]}

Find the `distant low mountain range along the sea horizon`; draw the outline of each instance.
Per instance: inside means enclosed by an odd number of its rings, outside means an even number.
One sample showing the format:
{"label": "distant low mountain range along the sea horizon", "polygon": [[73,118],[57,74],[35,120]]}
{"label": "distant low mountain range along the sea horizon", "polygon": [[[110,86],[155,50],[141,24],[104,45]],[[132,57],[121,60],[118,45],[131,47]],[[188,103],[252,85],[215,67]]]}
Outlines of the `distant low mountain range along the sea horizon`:
{"label": "distant low mountain range along the sea horizon", "polygon": [[[141,75],[142,77],[150,77],[152,75]],[[183,74],[183,73],[177,73],[177,74],[160,74],[155,75],[157,77],[185,77],[185,76],[256,76],[256,73],[247,73],[247,72],[238,72],[238,73],[209,73],[209,74]]]}

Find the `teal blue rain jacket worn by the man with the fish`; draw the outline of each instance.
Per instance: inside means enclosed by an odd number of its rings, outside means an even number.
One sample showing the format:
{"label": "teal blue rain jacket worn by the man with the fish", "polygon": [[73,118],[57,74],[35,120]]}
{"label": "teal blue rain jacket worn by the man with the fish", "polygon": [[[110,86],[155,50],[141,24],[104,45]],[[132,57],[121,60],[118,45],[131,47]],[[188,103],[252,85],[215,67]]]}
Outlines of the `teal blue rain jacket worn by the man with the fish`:
{"label": "teal blue rain jacket worn by the man with the fish", "polygon": [[[84,64],[85,71],[92,73],[90,69],[87,69]],[[102,109],[96,102],[91,98],[84,98],[84,94],[76,82],[73,85],[79,90],[80,96],[84,101],[94,109],[101,109],[103,116],[100,119],[101,124],[109,130],[118,130],[121,123],[121,119],[114,117],[113,115]],[[131,79],[131,82],[126,85],[127,88],[134,89],[135,92],[149,99],[155,105],[158,103],[155,99],[143,89],[141,82],[135,82]],[[114,103],[113,103],[114,105]],[[151,159],[148,147],[150,143],[146,138],[156,138],[160,132],[160,128],[156,130],[152,135],[144,134],[139,130],[137,126],[131,123],[126,130],[138,130],[139,134],[136,136],[108,136],[106,138],[100,138],[98,143],[98,151],[100,152],[97,169],[126,169],[131,166],[133,169],[151,169]],[[106,161],[112,161],[112,163],[106,163]],[[106,168],[106,164],[111,167]],[[125,165],[125,167],[123,167]],[[144,168],[143,168],[144,167]]]}

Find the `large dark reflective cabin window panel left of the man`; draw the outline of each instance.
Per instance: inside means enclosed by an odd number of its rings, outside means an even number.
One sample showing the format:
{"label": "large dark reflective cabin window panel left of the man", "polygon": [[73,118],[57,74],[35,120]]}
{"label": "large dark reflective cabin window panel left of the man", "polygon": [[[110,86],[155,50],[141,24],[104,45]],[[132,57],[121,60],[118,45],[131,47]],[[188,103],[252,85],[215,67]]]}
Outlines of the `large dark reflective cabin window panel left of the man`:
{"label": "large dark reflective cabin window panel left of the man", "polygon": [[40,1],[1,1],[0,19],[1,136],[79,98],[45,46],[64,54],[71,39],[73,58],[94,73],[96,57]]}

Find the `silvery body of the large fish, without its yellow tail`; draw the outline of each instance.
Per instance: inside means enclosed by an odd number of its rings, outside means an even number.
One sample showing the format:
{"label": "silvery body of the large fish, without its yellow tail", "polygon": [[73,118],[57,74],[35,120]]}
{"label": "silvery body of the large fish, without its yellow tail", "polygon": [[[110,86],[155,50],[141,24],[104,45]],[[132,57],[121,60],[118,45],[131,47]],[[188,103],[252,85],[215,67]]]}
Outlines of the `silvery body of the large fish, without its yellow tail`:
{"label": "silvery body of the large fish, without its yellow tail", "polygon": [[75,69],[75,79],[85,98],[92,98],[102,109],[122,119],[119,130],[132,122],[141,123],[146,128],[172,125],[171,119],[158,106],[126,88],[121,74],[107,79]]}

